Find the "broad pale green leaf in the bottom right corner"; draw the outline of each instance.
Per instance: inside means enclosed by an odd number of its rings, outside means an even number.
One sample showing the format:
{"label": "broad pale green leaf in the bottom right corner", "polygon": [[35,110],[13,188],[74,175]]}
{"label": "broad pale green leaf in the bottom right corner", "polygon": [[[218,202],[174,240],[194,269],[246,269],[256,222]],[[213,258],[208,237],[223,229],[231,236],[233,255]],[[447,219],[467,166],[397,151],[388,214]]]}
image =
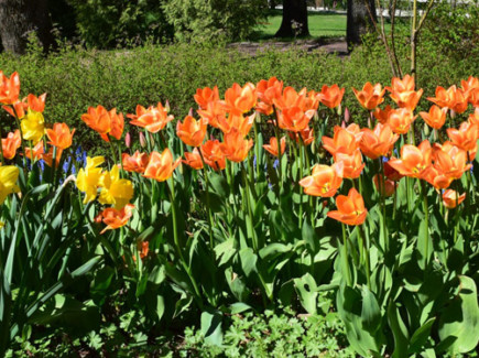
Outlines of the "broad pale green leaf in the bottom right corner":
{"label": "broad pale green leaf in the bottom right corner", "polygon": [[476,283],[460,275],[459,294],[439,318],[439,338],[443,349],[468,352],[479,343],[479,306]]}

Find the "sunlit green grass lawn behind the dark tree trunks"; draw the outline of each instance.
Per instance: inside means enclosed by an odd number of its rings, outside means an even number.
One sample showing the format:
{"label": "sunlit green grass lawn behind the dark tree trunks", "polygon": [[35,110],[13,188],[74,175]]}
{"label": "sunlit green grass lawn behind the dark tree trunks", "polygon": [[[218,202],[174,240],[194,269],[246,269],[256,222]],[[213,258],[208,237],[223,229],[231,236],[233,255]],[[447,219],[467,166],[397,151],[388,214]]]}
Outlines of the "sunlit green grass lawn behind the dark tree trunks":
{"label": "sunlit green grass lawn behind the dark tree trunks", "polygon": [[[258,26],[258,31],[251,40],[261,41],[273,37],[277,29],[280,29],[282,13],[282,10],[271,11],[268,20]],[[308,11],[307,20],[309,34],[313,39],[346,36],[346,14]],[[385,23],[385,31],[388,32],[390,29],[391,25]]]}

